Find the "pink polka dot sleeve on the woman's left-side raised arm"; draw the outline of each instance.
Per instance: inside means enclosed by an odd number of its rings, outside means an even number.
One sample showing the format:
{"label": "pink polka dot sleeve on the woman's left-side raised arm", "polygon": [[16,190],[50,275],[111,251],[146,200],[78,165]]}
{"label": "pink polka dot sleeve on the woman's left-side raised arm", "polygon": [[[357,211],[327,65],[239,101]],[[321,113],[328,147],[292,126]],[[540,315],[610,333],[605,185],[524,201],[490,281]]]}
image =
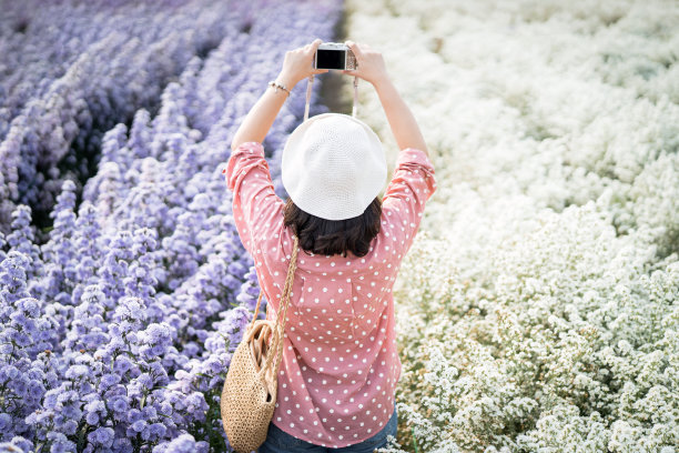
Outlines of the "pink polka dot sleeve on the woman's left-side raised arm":
{"label": "pink polka dot sleeve on the woman's left-side raised arm", "polygon": [[229,190],[233,191],[233,218],[241,241],[259,261],[266,239],[281,229],[284,208],[274,191],[264,147],[259,142],[242,143],[232,152],[222,172]]}

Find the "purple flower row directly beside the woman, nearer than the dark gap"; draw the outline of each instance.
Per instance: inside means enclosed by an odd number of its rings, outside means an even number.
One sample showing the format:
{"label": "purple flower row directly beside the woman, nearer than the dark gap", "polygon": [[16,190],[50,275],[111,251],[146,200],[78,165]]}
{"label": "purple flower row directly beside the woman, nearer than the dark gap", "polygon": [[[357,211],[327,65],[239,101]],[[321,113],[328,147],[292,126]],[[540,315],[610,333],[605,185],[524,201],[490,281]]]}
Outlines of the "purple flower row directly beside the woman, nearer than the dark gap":
{"label": "purple flower row directly beside the woman, nearer than the dark gap", "polygon": [[[259,284],[221,169],[285,51],[332,40],[341,13],[336,0],[250,4],[247,32],[229,19],[232,31],[188,61],[156,114],[138,110],[103,135],[78,208],[75,183],[61,184],[47,243],[30,208],[11,211],[0,233],[0,450],[231,451],[220,394]],[[264,143],[281,195],[277,162],[305,88]]]}

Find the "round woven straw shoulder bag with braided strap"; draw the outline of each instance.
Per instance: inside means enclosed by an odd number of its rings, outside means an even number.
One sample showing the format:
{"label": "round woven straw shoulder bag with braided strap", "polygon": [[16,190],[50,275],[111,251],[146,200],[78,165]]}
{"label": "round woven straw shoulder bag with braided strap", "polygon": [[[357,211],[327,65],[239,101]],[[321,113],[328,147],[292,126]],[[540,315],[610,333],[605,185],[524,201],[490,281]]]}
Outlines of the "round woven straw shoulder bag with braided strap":
{"label": "round woven straw shoulder bag with braided strap", "polygon": [[266,440],[273,417],[283,333],[293,278],[297,268],[297,236],[275,322],[257,320],[262,292],[252,322],[236,348],[222,390],[221,412],[229,443],[237,453],[250,453]]}

